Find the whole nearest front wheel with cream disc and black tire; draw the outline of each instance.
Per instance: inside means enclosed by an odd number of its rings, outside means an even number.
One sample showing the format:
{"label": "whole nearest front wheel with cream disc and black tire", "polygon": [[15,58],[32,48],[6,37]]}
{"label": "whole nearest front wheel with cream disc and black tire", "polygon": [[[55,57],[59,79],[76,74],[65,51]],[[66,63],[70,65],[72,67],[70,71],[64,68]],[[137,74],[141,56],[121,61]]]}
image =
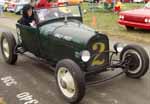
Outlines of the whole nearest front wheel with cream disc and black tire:
{"label": "whole nearest front wheel with cream disc and black tire", "polygon": [[72,60],[65,59],[57,64],[56,80],[58,88],[67,102],[77,103],[84,97],[84,74]]}

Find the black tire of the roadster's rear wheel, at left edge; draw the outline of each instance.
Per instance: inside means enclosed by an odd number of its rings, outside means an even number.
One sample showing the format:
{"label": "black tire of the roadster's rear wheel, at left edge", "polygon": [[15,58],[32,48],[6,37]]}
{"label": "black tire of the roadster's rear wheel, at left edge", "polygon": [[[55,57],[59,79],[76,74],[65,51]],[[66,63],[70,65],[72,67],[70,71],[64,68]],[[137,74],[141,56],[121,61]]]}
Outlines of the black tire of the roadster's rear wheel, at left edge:
{"label": "black tire of the roadster's rear wheel, at left edge", "polygon": [[[4,53],[4,43],[3,41],[6,41],[8,43],[8,48],[9,48],[9,56],[7,57],[6,54]],[[2,56],[5,60],[6,63],[8,64],[15,64],[17,61],[17,54],[15,54],[15,47],[16,47],[16,40],[13,36],[12,33],[10,32],[3,32],[1,35],[1,51],[2,51]]]}

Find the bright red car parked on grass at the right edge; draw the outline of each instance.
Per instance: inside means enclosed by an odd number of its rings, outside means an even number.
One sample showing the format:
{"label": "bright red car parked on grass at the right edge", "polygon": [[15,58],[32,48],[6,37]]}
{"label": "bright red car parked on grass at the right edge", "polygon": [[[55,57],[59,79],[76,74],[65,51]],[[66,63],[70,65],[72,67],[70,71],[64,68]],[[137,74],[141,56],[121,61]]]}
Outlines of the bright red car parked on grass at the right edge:
{"label": "bright red car parked on grass at the right edge", "polygon": [[124,25],[127,30],[134,28],[150,30],[150,2],[141,9],[120,12],[118,23]]}

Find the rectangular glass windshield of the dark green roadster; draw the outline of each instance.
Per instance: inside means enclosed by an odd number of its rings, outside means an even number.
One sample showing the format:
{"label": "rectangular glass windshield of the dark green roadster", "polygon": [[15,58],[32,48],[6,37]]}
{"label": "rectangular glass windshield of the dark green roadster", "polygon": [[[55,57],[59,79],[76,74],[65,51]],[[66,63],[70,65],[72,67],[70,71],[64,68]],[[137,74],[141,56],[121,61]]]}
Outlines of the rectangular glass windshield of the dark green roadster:
{"label": "rectangular glass windshield of the dark green roadster", "polygon": [[79,6],[64,6],[49,9],[36,10],[39,22],[48,21],[62,17],[80,17]]}

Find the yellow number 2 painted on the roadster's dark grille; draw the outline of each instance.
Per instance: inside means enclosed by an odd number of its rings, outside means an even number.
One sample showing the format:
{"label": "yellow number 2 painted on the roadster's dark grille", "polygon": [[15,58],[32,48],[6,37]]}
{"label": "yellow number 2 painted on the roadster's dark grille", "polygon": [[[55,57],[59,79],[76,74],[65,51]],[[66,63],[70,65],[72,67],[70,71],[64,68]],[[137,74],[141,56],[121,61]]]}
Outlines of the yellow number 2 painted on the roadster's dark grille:
{"label": "yellow number 2 painted on the roadster's dark grille", "polygon": [[101,42],[97,42],[97,43],[93,44],[92,50],[93,51],[98,50],[98,54],[94,57],[94,59],[92,61],[92,66],[104,64],[105,60],[100,59],[99,57],[100,57],[101,53],[105,51],[105,44],[101,43]]}

